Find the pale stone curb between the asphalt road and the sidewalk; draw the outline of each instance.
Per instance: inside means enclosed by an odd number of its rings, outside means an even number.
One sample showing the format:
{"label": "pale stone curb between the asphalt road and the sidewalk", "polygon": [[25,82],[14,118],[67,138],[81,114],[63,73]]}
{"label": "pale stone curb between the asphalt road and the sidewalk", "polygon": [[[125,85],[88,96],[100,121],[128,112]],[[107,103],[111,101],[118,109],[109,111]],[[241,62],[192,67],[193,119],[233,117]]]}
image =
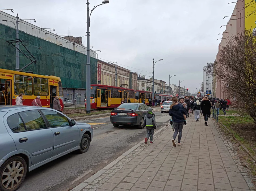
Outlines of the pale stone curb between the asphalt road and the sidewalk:
{"label": "pale stone curb between the asphalt road and the sidewalk", "polygon": [[[157,132],[155,132],[154,135],[156,135],[157,133],[161,132],[168,124],[169,124],[169,122],[167,124],[165,124],[165,125],[162,125],[161,129],[159,129]],[[114,161],[109,163],[107,166],[105,166],[104,168],[102,168],[101,170],[96,172],[90,178],[88,178],[87,180],[83,181],[82,183],[80,183],[79,185],[77,185],[75,188],[73,188],[70,191],[80,191],[81,189],[85,188],[85,186],[87,186],[88,183],[91,183],[92,181],[94,181],[96,178],[98,178],[100,175],[102,175],[104,172],[106,172],[109,168],[111,168],[116,163],[118,163],[121,159],[123,159],[125,156],[127,156],[129,153],[131,153],[133,150],[137,149],[143,143],[144,143],[144,140],[140,141],[137,145],[133,146],[131,149],[129,149],[125,153],[121,154],[120,157],[118,157],[117,159],[115,159]]]}

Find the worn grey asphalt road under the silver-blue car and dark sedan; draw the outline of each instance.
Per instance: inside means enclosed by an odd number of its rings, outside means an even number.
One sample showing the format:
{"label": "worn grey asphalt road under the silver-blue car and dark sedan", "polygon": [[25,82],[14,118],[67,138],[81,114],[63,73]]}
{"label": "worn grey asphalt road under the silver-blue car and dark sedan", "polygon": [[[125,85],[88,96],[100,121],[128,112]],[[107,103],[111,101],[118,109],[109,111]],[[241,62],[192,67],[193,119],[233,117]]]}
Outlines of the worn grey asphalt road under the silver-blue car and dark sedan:
{"label": "worn grey asphalt road under the silver-blue car and dark sedan", "polygon": [[[169,115],[161,114],[154,108],[157,127],[169,120]],[[89,123],[94,128],[94,136],[89,150],[84,154],[67,154],[47,163],[27,174],[19,191],[68,191],[98,172],[125,151],[142,141],[145,129],[110,124],[110,117],[90,118],[79,122]]]}

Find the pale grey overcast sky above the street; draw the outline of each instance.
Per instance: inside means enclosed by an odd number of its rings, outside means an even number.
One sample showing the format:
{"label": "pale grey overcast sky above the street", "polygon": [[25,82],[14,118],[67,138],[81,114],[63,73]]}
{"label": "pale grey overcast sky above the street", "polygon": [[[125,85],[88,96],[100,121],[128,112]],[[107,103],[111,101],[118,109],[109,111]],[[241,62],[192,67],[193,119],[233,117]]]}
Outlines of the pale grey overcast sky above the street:
{"label": "pale grey overcast sky above the street", "polygon": [[[216,41],[232,14],[232,0],[109,0],[91,16],[90,45],[101,50],[99,58],[110,60],[141,75],[196,92],[203,82],[203,67],[215,60]],[[36,19],[43,28],[55,28],[57,34],[86,35],[86,0],[0,0],[0,9],[12,8],[16,16]],[[89,0],[90,8],[101,0]],[[86,45],[86,37],[82,40]],[[121,65],[122,64],[122,65]],[[125,66],[123,66],[125,65]],[[131,68],[133,67],[133,68]],[[135,69],[136,68],[136,69]]]}

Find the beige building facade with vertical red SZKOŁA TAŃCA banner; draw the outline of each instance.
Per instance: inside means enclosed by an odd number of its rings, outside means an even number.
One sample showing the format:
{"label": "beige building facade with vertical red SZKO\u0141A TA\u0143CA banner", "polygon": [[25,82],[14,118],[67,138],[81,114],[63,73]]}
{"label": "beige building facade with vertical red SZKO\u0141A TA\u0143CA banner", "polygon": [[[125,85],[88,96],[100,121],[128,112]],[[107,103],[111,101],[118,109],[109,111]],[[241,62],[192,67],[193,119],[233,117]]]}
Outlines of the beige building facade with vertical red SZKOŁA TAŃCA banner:
{"label": "beige building facade with vertical red SZKO\u0141A TA\u0143CA banner", "polygon": [[[98,84],[115,86],[115,64],[98,60]],[[137,73],[117,66],[117,86],[128,85],[130,89],[137,90]]]}

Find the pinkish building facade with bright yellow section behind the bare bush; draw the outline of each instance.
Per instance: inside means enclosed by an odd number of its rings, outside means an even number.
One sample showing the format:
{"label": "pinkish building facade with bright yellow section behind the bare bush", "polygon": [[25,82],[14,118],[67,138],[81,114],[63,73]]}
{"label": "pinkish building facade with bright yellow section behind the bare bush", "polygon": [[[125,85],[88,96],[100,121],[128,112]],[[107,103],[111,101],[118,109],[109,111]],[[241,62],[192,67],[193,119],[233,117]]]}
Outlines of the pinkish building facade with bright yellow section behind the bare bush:
{"label": "pinkish building facade with bright yellow section behind the bare bush", "polygon": [[[216,61],[220,59],[221,48],[225,46],[228,38],[237,35],[245,29],[256,30],[255,3],[251,2],[251,0],[237,1],[231,14],[232,16],[227,22],[226,29],[222,33]],[[223,83],[219,79],[213,79],[213,96],[219,98],[228,96]]]}

